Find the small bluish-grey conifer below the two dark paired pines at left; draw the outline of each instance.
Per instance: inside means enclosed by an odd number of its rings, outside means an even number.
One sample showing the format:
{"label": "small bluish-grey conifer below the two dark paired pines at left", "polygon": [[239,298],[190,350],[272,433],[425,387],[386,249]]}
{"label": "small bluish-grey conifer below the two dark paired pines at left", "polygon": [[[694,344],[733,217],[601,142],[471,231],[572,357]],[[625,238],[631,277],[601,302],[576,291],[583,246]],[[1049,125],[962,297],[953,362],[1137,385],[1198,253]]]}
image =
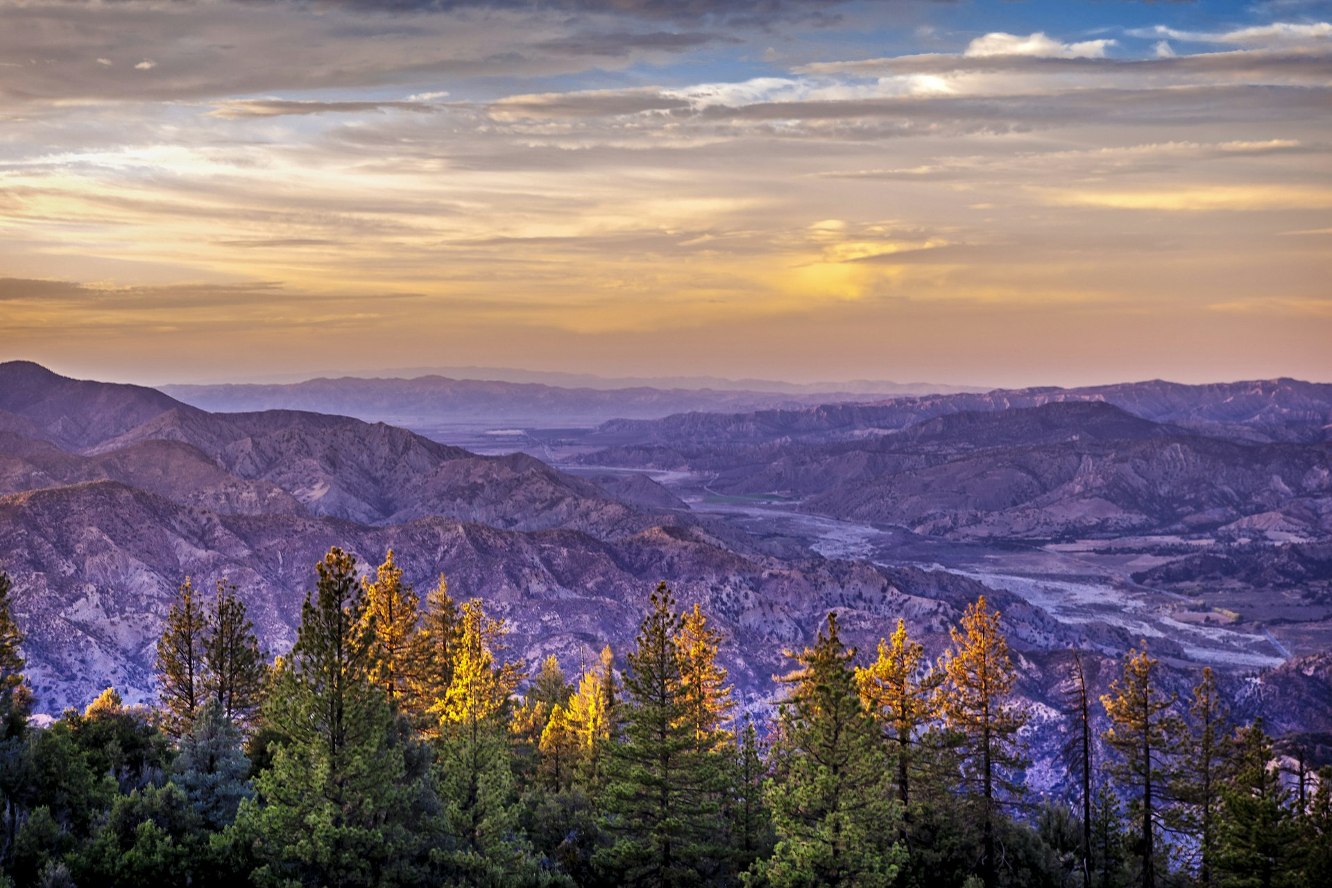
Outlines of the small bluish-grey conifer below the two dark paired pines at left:
{"label": "small bluish-grey conifer below the two dark paired pines at left", "polygon": [[241,801],[254,796],[246,779],[249,759],[241,751],[241,732],[217,698],[200,707],[194,726],[180,740],[172,770],[172,783],[184,789],[208,829],[229,827]]}

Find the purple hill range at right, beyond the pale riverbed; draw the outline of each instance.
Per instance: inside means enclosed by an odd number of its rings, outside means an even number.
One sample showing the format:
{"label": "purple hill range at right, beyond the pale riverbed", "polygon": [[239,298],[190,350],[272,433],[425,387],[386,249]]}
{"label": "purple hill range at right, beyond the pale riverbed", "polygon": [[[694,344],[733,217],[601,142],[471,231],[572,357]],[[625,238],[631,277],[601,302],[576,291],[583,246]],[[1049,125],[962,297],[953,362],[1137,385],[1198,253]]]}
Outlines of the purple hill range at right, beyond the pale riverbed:
{"label": "purple hill range at right, beyond the pale riverbed", "polygon": [[646,443],[579,459],[711,473],[722,494],[774,494],[815,514],[954,539],[1332,537],[1332,442],[1213,437],[1102,401],[951,413],[830,443],[669,453]]}

